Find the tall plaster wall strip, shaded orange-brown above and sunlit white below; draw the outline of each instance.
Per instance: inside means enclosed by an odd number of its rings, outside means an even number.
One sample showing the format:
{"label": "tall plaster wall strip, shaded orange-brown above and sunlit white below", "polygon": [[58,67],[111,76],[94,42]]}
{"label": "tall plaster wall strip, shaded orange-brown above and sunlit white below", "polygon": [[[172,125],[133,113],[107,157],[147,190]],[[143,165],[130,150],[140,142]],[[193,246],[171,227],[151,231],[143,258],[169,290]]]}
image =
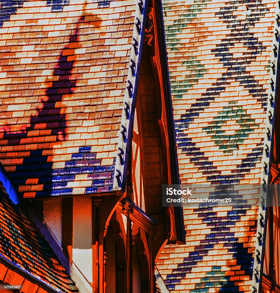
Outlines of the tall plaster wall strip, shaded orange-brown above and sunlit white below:
{"label": "tall plaster wall strip, shaded orange-brown above and sunlit white below", "polygon": [[91,198],[73,199],[73,264],[71,277],[81,293],[92,293]]}

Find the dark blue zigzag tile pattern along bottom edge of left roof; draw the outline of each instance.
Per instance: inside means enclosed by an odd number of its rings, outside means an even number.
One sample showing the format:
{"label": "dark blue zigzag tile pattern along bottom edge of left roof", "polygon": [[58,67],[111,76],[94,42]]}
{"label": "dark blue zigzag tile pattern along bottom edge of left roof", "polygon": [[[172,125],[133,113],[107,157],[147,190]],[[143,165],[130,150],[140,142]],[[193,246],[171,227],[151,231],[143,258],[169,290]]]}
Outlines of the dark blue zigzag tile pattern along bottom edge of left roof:
{"label": "dark blue zigzag tile pattern along bottom edge of left roof", "polygon": [[[91,147],[80,147],[64,168],[52,168],[42,150],[30,151],[21,165],[9,173],[21,197],[46,197],[109,192],[113,189],[115,160],[112,166],[101,166]],[[37,179],[34,179],[37,178]]]}

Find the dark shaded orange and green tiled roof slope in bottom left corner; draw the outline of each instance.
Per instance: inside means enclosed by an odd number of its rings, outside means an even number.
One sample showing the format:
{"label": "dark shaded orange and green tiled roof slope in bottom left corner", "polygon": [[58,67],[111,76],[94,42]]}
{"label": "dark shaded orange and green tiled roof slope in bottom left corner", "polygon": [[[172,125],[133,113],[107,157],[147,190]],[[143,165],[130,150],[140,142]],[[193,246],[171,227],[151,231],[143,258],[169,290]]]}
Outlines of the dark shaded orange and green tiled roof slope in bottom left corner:
{"label": "dark shaded orange and green tiled roof slope in bottom left corner", "polygon": [[14,266],[11,270],[26,278],[32,274],[43,288],[79,292],[40,230],[20,207],[13,204],[1,181],[0,256],[0,263],[8,264],[8,267],[11,264]]}

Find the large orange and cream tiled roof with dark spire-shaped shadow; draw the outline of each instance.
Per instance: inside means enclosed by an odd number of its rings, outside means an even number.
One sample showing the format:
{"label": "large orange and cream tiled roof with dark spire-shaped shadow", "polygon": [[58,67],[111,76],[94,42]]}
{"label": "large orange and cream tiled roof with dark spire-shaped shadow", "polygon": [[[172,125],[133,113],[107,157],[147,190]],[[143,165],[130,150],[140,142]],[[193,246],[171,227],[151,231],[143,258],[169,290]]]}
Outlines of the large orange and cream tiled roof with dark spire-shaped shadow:
{"label": "large orange and cream tiled roof with dark spire-shaped shadow", "polygon": [[0,28],[1,163],[23,197],[112,191],[141,1],[12,5]]}

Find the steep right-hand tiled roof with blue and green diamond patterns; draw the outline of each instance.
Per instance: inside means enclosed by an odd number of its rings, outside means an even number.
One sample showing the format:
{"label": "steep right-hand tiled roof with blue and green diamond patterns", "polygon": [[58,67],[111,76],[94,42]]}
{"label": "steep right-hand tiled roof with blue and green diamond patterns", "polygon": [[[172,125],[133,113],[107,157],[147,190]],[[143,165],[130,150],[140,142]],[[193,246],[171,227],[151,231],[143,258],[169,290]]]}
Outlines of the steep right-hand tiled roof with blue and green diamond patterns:
{"label": "steep right-hand tiled roof with blue and green diamond patterns", "polygon": [[[182,183],[260,182],[275,7],[163,1]],[[257,212],[185,208],[186,245],[158,263],[170,292],[251,292]]]}

